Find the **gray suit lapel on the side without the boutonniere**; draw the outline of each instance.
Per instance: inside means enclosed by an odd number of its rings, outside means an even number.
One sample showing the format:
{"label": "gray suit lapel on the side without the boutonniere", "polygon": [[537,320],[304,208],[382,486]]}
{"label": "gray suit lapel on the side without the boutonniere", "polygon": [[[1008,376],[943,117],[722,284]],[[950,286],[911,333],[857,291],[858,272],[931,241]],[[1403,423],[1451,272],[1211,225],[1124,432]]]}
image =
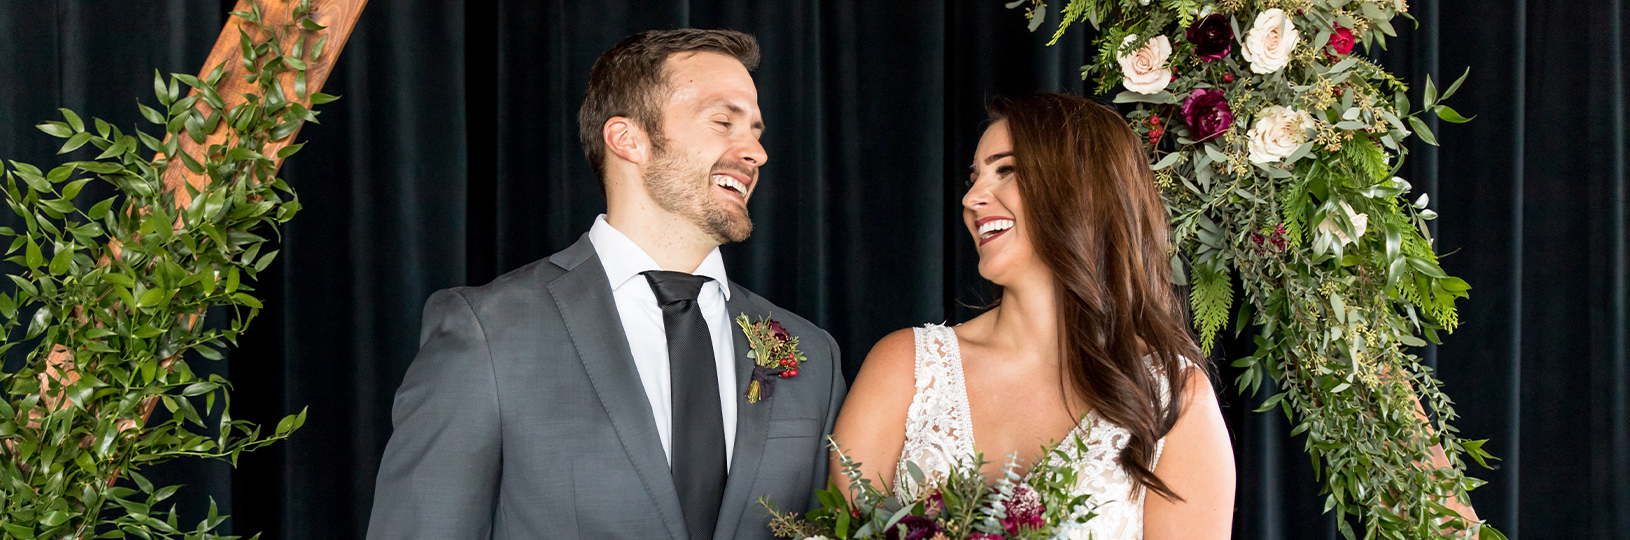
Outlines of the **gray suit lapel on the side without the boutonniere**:
{"label": "gray suit lapel on the side without the boutonniere", "polygon": [[595,395],[600,396],[600,406],[611,418],[623,452],[634,463],[634,471],[655,502],[668,535],[685,538],[680,496],[673,489],[668,458],[662,454],[662,440],[657,437],[657,421],[639,383],[634,356],[629,352],[628,336],[623,334],[600,258],[595,256],[588,235],[584,235],[575,245],[549,259],[567,269],[564,276],[549,282],[549,294],[554,295],[561,318],[566,320],[566,331],[572,336],[572,346],[584,362],[584,370],[588,372]]}

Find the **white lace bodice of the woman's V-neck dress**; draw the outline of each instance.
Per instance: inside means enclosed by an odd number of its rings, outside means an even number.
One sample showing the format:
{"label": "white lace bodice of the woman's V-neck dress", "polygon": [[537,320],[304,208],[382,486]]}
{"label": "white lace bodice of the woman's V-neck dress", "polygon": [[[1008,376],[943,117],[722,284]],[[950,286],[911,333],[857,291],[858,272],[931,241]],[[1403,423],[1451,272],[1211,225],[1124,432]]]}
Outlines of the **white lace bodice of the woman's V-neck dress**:
{"label": "white lace bodice of the woman's V-neck dress", "polygon": [[[939,325],[913,331],[916,393],[906,409],[906,442],[895,467],[895,496],[901,499],[914,499],[923,489],[908,471],[906,462],[918,465],[924,485],[934,485],[950,471],[952,463],[970,460],[975,452],[973,414],[968,409],[957,333]],[[1076,530],[1071,538],[1086,540],[1089,535],[1094,540],[1143,538],[1143,489],[1133,489],[1136,483],[1118,462],[1131,434],[1089,411],[1068,437],[1063,447],[1079,470],[1076,493],[1092,494],[1092,502],[1099,504],[1099,516],[1087,520],[1087,527]],[[1074,439],[1086,442],[1086,455],[1076,454]],[[1165,439],[1161,439],[1154,447],[1151,470],[1161,460],[1164,447]]]}

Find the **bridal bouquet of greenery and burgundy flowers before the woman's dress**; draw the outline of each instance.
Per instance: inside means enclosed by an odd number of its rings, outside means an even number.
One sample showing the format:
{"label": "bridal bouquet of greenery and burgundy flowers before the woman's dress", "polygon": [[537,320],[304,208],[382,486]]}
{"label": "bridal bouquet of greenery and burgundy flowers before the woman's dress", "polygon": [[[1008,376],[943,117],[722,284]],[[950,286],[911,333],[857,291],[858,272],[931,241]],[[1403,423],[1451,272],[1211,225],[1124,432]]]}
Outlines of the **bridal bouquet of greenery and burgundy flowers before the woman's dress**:
{"label": "bridal bouquet of greenery and burgundy flowers before the woman's dress", "polygon": [[[1079,437],[1071,439],[1076,455],[1086,447]],[[1071,538],[1095,514],[1089,496],[1074,494],[1074,460],[1063,445],[1050,445],[1040,462],[1027,473],[1019,473],[1014,455],[1007,457],[1001,476],[994,481],[980,473],[983,455],[955,463],[944,478],[926,478],[911,462],[905,467],[916,486],[911,498],[898,498],[879,489],[861,476],[856,463],[838,444],[843,475],[849,478],[849,496],[836,486],[817,491],[822,507],[804,516],[776,511],[768,499],[760,499],[769,514],[771,532],[794,540],[998,540],[998,538]]]}

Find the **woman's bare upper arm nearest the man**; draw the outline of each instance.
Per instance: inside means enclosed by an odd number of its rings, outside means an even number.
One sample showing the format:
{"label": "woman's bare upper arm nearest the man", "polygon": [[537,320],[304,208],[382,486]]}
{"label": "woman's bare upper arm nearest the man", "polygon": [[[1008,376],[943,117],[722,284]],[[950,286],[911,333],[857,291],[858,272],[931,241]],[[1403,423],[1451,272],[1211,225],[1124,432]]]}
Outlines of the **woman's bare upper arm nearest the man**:
{"label": "woman's bare upper arm nearest the man", "polygon": [[[895,463],[906,440],[906,409],[914,393],[916,339],[906,328],[872,346],[831,432],[843,454],[859,462],[864,478],[870,478],[879,489],[893,486]],[[830,458],[831,481],[848,494],[849,478],[838,465],[838,454]]]}

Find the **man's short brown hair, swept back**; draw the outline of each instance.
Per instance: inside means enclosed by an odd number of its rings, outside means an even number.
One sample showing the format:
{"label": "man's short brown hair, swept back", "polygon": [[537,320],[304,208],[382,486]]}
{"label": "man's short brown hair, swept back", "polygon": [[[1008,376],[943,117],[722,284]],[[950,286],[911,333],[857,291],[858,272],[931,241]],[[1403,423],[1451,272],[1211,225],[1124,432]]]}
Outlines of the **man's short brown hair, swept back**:
{"label": "man's short brown hair, swept back", "polygon": [[601,54],[588,72],[588,91],[577,111],[577,137],[605,184],[605,124],[613,116],[637,122],[654,147],[662,145],[662,93],[668,85],[667,62],[675,52],[719,52],[758,67],[758,39],[732,29],[654,29],[628,36]]}

